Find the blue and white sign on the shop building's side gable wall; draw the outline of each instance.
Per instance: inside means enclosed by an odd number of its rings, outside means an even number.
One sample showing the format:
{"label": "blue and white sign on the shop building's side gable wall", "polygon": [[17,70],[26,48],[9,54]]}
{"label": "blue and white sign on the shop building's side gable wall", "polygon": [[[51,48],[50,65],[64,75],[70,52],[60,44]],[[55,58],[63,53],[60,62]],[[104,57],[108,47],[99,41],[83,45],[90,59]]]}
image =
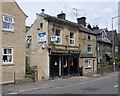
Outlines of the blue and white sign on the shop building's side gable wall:
{"label": "blue and white sign on the shop building's side gable wall", "polygon": [[38,44],[44,44],[47,41],[46,32],[39,32],[38,35]]}

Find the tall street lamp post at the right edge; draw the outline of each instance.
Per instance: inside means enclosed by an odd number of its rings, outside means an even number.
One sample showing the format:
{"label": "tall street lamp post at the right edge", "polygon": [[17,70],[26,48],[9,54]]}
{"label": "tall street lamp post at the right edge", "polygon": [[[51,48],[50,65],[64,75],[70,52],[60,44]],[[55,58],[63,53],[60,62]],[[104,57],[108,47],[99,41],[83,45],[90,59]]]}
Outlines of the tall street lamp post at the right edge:
{"label": "tall street lamp post at the right edge", "polygon": [[115,72],[115,35],[114,35],[114,31],[113,31],[113,20],[118,17],[120,17],[120,16],[112,17],[112,59],[113,59],[114,72]]}

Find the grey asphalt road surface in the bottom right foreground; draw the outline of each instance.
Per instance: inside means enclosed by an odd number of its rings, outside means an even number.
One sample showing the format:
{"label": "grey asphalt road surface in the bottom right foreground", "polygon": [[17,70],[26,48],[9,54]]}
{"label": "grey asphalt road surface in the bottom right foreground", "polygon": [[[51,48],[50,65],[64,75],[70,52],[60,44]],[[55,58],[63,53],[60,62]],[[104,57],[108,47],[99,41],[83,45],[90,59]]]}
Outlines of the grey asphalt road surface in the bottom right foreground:
{"label": "grey asphalt road surface in the bottom right foreground", "polygon": [[118,74],[86,82],[22,92],[19,94],[118,94]]}

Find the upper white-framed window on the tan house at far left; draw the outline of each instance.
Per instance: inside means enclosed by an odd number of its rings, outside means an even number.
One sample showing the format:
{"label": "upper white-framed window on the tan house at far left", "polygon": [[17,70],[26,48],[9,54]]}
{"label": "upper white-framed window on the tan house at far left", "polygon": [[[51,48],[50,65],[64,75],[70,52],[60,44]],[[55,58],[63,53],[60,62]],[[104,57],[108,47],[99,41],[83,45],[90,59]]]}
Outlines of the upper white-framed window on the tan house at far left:
{"label": "upper white-framed window on the tan house at far left", "polygon": [[14,18],[12,16],[3,16],[3,30],[13,31],[14,30]]}

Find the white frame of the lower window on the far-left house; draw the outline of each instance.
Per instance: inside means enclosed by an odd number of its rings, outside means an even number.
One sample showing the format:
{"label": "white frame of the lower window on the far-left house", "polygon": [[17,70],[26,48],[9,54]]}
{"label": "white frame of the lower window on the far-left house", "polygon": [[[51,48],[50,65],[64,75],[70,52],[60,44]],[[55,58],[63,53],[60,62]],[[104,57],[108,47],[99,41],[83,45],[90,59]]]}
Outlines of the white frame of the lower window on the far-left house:
{"label": "white frame of the lower window on the far-left house", "polygon": [[[11,49],[11,53],[8,53],[8,51],[7,51],[7,54],[4,54],[4,49]],[[12,56],[12,59],[11,59],[11,62],[4,62],[3,61],[3,56],[4,55],[7,55],[7,56]],[[5,64],[13,64],[13,47],[3,47],[2,48],[2,62],[3,62],[3,65],[5,65]]]}

